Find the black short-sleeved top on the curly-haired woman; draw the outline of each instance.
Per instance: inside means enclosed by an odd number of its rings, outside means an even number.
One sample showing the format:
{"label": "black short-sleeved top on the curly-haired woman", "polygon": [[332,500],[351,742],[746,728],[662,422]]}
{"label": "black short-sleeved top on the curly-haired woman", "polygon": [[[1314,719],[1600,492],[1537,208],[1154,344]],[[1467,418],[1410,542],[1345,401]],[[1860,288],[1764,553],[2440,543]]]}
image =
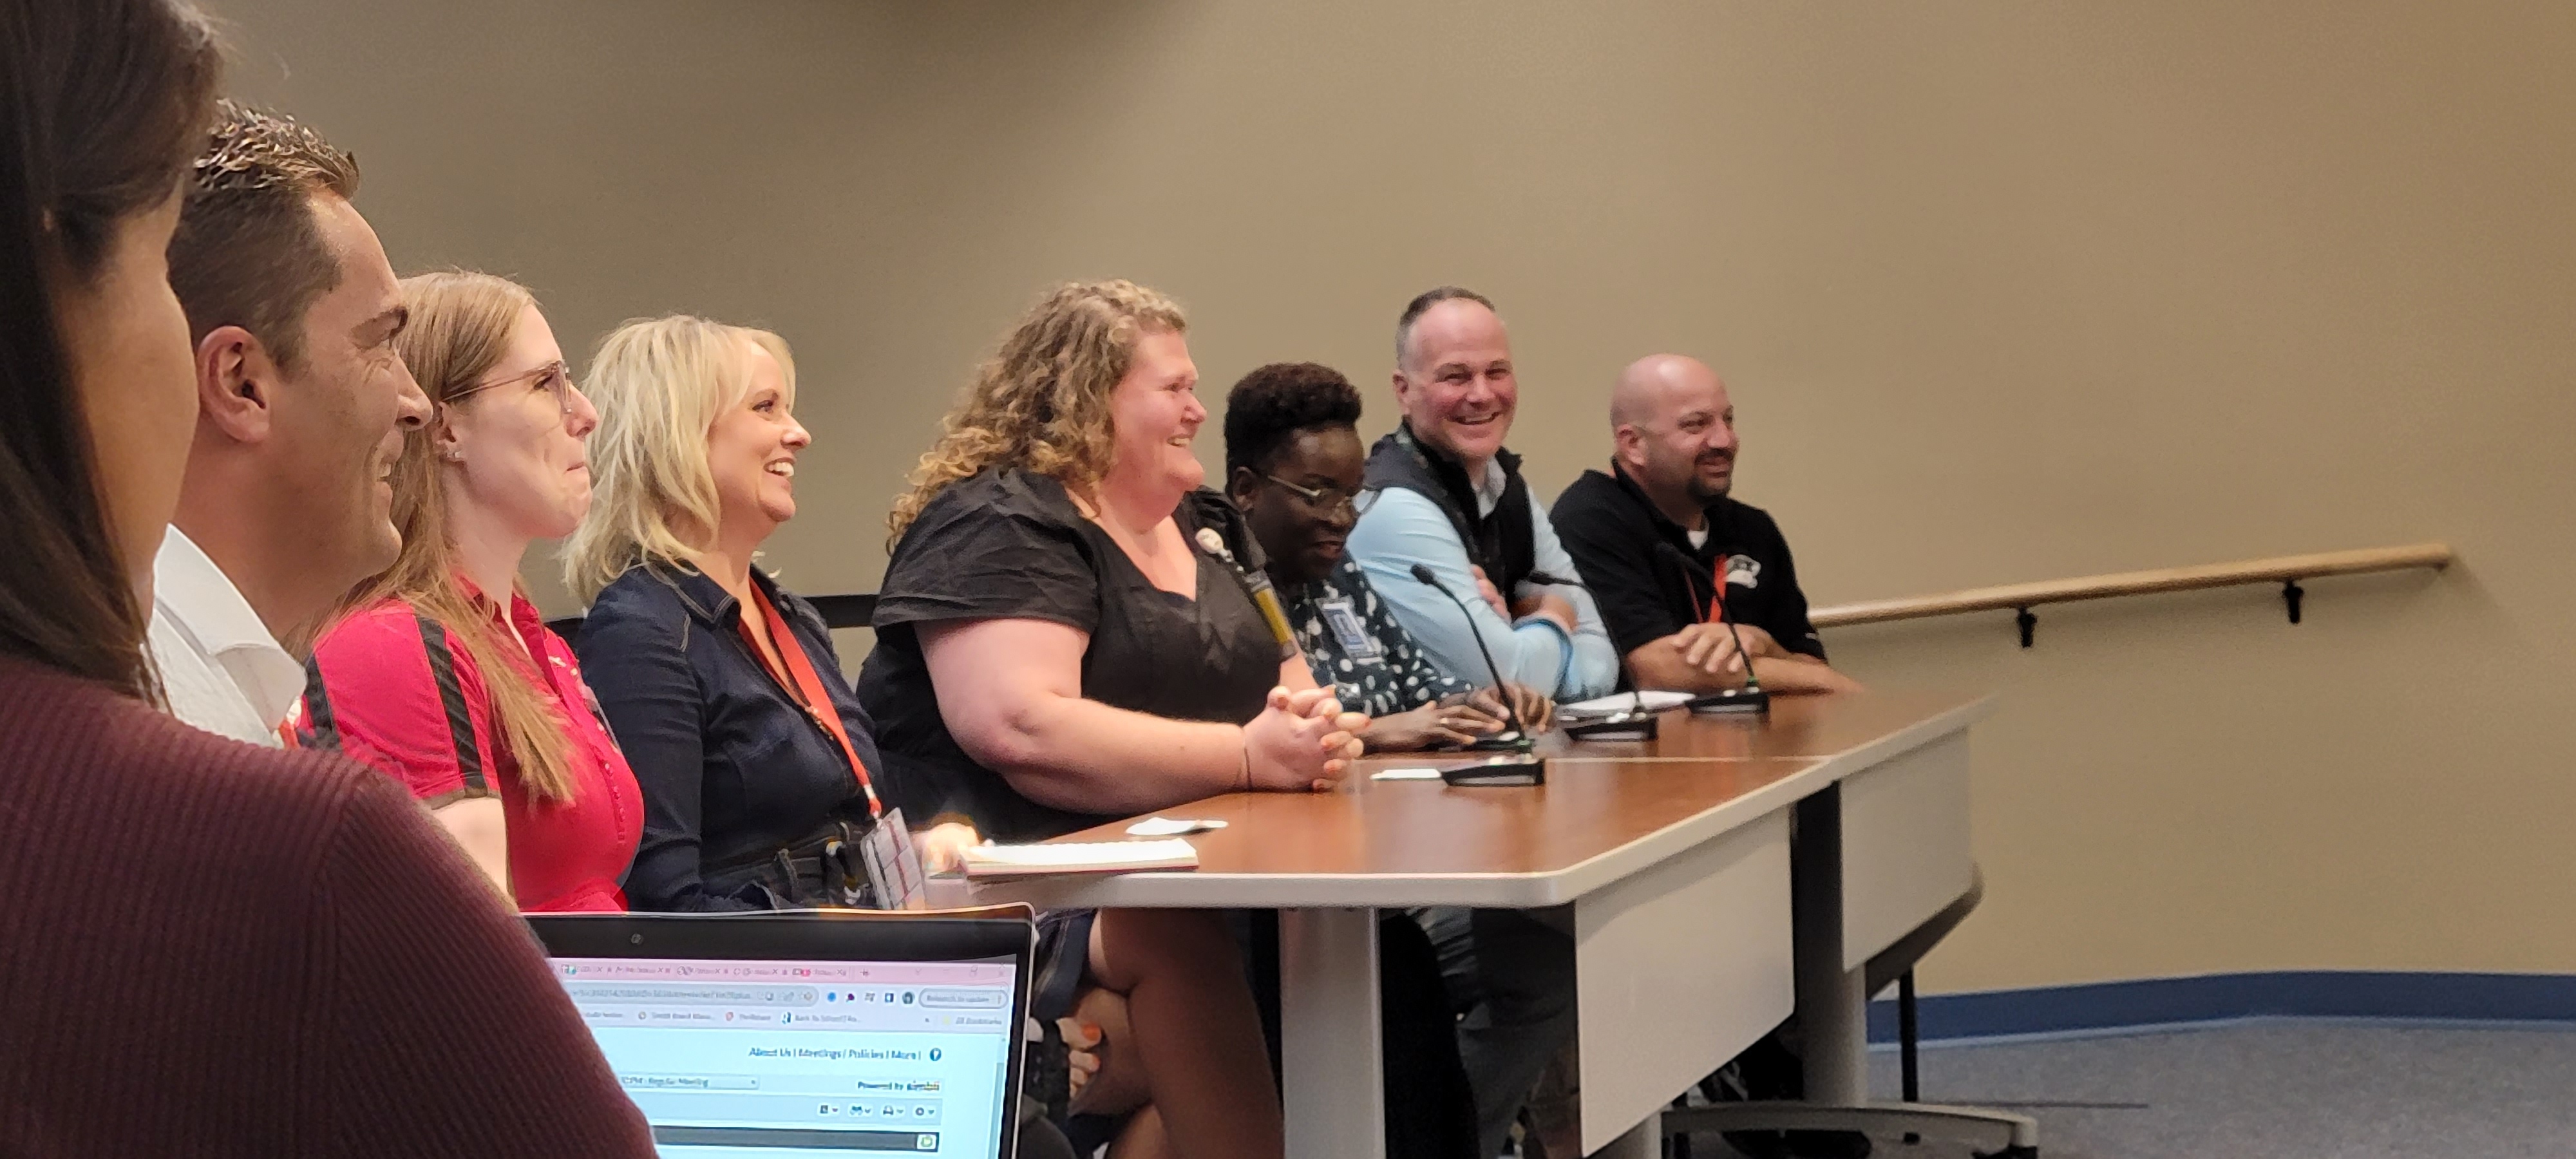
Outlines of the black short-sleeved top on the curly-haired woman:
{"label": "black short-sleeved top on the curly-haired woman", "polygon": [[[1200,489],[1175,510],[1182,538],[1213,525],[1236,559],[1260,567],[1242,515]],[[994,840],[1038,840],[1113,819],[1051,809],[976,765],[940,719],[914,626],[948,621],[1054,621],[1090,634],[1082,695],[1177,721],[1244,724],[1280,680],[1280,646],[1244,595],[1242,574],[1198,554],[1198,598],[1154,587],[1108,531],[1074,510],[1043,474],[994,469],[943,489],[886,561],[876,598],[876,652],[858,698],[912,816],[963,811]],[[974,695],[951,688],[948,695]],[[1180,801],[1172,801],[1180,804]]]}

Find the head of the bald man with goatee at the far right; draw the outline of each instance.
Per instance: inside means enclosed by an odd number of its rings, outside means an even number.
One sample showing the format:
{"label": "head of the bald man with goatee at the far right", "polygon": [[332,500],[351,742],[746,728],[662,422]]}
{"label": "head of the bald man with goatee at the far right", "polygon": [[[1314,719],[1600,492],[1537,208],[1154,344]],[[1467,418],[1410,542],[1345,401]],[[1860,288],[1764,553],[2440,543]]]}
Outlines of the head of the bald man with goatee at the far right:
{"label": "head of the bald man with goatee at the far right", "polygon": [[1736,404],[1708,363],[1646,355],[1610,389],[1610,435],[1628,479],[1674,523],[1700,525],[1700,507],[1736,479]]}

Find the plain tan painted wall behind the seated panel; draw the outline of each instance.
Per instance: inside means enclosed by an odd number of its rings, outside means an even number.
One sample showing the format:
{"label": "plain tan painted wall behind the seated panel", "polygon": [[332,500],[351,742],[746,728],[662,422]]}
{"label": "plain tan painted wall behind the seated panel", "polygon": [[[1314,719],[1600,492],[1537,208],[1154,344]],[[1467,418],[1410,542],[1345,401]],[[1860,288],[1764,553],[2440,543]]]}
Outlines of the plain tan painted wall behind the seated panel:
{"label": "plain tan painted wall behind the seated panel", "polygon": [[1705,355],[1824,603],[2447,538],[2300,628],[1832,634],[2004,693],[1927,984],[2576,971],[2571,5],[216,3],[397,265],[523,276],[580,350],[781,327],[811,592],[873,585],[935,415],[1077,276],[1180,296],[1211,402],[1319,358],[1370,428],[1401,301],[1479,286],[1546,489],[1623,361]]}

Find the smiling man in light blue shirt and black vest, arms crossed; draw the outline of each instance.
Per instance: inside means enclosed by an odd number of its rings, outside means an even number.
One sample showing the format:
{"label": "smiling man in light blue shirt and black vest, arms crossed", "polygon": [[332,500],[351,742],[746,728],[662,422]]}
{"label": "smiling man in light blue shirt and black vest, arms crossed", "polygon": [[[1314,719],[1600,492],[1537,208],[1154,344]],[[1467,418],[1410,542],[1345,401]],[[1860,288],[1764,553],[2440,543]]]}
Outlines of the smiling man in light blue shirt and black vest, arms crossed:
{"label": "smiling man in light blue shirt and black vest, arms crossed", "polygon": [[[1345,554],[1443,672],[1494,683],[1468,631],[1473,616],[1502,680],[1569,701],[1600,695],[1618,680],[1618,649],[1520,479],[1520,456],[1502,448],[1517,402],[1512,340],[1492,301],[1443,286],[1404,306],[1396,319],[1404,425],[1368,453],[1365,507]],[[1458,592],[1466,610],[1417,580],[1414,567]],[[1548,914],[1522,909],[1440,907],[1417,909],[1414,919],[1440,953],[1440,979],[1461,1015],[1458,1061],[1476,1092],[1476,1146],[1492,1159],[1548,1059],[1574,1038],[1574,938]]]}

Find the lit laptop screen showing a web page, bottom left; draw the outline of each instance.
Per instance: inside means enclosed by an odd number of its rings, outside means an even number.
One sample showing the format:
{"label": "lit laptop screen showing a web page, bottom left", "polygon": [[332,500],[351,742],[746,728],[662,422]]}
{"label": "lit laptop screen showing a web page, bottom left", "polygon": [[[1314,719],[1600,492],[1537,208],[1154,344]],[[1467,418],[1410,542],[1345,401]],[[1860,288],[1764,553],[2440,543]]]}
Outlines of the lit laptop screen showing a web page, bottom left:
{"label": "lit laptop screen showing a web page, bottom left", "polygon": [[997,1156],[1015,958],[554,958],[665,1156]]}

